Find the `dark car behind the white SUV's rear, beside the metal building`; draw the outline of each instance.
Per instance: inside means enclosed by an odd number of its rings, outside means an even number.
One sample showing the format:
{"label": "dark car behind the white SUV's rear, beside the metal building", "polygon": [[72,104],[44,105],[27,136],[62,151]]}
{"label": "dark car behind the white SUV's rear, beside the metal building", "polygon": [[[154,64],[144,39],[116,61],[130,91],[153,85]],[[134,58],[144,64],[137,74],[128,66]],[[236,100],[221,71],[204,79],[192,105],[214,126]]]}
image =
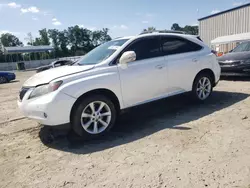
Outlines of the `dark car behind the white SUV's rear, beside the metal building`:
{"label": "dark car behind the white SUV's rear, beside the metal building", "polygon": [[243,42],[228,54],[218,57],[223,76],[250,76],[250,41]]}

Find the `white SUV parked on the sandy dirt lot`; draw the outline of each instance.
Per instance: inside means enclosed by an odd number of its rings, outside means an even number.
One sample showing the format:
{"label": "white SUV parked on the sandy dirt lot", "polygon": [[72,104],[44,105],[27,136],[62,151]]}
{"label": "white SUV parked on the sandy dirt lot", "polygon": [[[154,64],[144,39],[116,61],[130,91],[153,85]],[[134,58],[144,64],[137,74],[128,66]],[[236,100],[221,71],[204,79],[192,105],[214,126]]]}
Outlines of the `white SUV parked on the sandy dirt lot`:
{"label": "white SUV parked on the sandy dirt lot", "polygon": [[151,33],[117,38],[76,64],[23,85],[18,105],[44,125],[70,123],[80,136],[104,134],[123,109],[191,91],[206,100],[220,78],[216,56],[196,36]]}

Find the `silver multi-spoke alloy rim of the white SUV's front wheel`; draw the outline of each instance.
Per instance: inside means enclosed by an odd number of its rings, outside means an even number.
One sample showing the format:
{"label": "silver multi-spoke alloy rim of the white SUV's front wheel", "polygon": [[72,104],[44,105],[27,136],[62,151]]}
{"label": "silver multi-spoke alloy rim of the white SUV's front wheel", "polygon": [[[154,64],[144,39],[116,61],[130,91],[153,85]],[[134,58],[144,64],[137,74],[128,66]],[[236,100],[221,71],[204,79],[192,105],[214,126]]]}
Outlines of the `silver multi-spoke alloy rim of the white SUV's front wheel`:
{"label": "silver multi-spoke alloy rim of the white SUV's front wheel", "polygon": [[111,121],[110,107],[102,101],[88,104],[81,115],[81,125],[90,134],[100,134],[106,130]]}

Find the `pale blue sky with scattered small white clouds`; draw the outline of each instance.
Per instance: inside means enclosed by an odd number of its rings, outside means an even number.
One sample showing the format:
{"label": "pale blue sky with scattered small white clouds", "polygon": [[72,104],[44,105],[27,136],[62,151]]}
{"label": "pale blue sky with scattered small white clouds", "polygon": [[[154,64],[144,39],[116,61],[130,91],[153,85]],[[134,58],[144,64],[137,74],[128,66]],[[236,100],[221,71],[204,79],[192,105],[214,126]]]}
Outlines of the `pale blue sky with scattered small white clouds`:
{"label": "pale blue sky with scattered small white clouds", "polygon": [[249,0],[0,0],[0,34],[11,32],[23,42],[42,28],[63,30],[79,25],[107,27],[111,37],[137,35],[144,28],[197,25],[198,18]]}

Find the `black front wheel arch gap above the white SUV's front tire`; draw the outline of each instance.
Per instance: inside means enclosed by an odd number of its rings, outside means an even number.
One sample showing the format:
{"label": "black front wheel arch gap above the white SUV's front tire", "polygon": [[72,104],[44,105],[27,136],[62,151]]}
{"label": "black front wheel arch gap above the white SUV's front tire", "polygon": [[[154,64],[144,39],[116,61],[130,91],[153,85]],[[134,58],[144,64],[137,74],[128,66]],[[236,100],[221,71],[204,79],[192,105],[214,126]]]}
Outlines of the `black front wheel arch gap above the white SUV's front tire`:
{"label": "black front wheel arch gap above the white SUV's front tire", "polygon": [[116,96],[116,94],[113,91],[109,90],[109,89],[100,88],[100,89],[94,89],[94,90],[88,91],[88,92],[82,94],[80,97],[78,97],[78,99],[73,104],[73,107],[71,108],[70,121],[72,120],[73,112],[76,109],[77,105],[85,97],[88,97],[90,95],[104,95],[105,97],[108,97],[113,102],[113,104],[115,105],[115,109],[116,109],[117,113],[119,113],[119,111],[121,109],[121,104],[120,104],[120,101],[119,101],[118,97]]}

